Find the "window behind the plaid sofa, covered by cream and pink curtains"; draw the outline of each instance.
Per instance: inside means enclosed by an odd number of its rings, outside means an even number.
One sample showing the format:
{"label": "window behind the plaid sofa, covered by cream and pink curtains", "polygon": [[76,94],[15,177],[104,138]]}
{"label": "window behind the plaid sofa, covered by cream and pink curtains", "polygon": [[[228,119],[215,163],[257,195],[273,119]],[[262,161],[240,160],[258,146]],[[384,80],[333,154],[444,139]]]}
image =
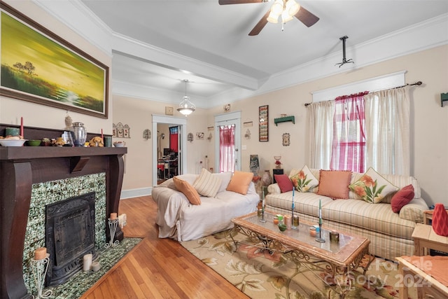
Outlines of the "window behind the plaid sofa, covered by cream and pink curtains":
{"label": "window behind the plaid sofa, covered by cream and pink curtains", "polygon": [[409,106],[408,87],[310,104],[311,167],[409,175]]}

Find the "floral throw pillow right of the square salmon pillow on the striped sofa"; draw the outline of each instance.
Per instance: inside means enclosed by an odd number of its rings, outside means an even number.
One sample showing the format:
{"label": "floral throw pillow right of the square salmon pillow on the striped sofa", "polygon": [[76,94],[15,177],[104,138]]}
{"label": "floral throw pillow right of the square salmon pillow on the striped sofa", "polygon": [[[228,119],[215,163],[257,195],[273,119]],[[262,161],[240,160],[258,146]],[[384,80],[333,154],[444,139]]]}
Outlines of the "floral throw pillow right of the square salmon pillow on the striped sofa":
{"label": "floral throw pillow right of the square salmon pillow on the striped sofa", "polygon": [[372,167],[367,169],[367,172],[361,178],[349,186],[360,199],[377,204],[389,193],[397,191],[399,188],[393,186],[390,181],[387,181]]}

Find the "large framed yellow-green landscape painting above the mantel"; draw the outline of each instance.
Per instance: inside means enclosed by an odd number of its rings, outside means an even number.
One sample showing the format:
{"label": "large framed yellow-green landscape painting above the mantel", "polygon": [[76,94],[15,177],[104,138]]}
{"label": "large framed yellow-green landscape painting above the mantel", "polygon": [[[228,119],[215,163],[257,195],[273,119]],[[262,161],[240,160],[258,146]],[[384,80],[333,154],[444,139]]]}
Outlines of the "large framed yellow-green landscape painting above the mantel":
{"label": "large framed yellow-green landscape painting above the mantel", "polygon": [[107,118],[109,67],[0,2],[1,94]]}

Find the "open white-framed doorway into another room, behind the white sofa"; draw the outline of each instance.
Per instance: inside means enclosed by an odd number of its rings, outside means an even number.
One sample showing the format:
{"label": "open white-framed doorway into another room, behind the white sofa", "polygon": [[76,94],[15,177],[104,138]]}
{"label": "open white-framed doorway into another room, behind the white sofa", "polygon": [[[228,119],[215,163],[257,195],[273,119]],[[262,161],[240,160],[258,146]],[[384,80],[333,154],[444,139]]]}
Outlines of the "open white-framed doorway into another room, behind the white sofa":
{"label": "open white-framed doorway into another room, behind the white sofa", "polygon": [[[153,115],[153,132],[158,132],[158,127],[177,127],[178,130],[178,152],[176,154],[176,163],[169,164],[169,169],[171,167],[176,167],[176,171],[172,173],[176,174],[183,174],[184,169],[187,169],[187,151],[186,151],[186,144],[187,144],[187,120],[186,118],[176,118],[173,116],[158,116]],[[158,177],[159,177],[159,160],[160,157],[164,155],[164,149],[169,148],[169,129],[167,132],[162,132],[159,130],[158,134],[156,135],[157,138],[153,138],[153,186],[157,186],[158,184]],[[165,134],[164,139],[162,139],[162,134]],[[159,144],[160,139],[160,144]],[[166,139],[166,140],[165,140]],[[162,141],[167,141],[167,146],[165,147],[165,143]],[[159,146],[158,146],[159,145]],[[171,153],[171,151],[170,151]],[[171,162],[171,161],[169,161]],[[164,162],[165,163],[165,162]],[[164,165],[164,172],[165,172],[165,165]]]}

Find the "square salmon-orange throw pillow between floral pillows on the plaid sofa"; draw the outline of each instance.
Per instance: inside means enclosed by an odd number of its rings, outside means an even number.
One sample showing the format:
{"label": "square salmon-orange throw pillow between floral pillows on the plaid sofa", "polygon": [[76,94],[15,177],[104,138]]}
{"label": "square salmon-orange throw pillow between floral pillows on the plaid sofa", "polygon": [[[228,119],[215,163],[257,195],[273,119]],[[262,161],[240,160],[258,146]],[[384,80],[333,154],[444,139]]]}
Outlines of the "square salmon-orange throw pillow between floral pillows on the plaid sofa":
{"label": "square salmon-orange throw pillow between floral pillows on the plaid sofa", "polygon": [[322,170],[319,176],[318,195],[328,196],[334,200],[349,198],[350,170]]}

